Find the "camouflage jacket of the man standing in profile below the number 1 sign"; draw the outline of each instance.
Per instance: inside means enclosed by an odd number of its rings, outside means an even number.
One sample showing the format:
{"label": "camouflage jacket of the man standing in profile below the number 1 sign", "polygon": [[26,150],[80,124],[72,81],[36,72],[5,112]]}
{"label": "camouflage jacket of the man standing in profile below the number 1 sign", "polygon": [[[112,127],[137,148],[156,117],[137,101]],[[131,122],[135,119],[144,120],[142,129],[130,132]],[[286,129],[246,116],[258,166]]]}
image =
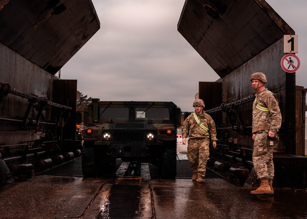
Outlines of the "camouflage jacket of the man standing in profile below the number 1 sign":
{"label": "camouflage jacket of the man standing in profile below the number 1 sign", "polygon": [[[267,108],[268,111],[258,109],[258,107]],[[256,94],[253,104],[253,128],[255,133],[260,130],[269,130],[277,133],[282,124],[282,115],[278,106],[276,95],[265,89]]]}

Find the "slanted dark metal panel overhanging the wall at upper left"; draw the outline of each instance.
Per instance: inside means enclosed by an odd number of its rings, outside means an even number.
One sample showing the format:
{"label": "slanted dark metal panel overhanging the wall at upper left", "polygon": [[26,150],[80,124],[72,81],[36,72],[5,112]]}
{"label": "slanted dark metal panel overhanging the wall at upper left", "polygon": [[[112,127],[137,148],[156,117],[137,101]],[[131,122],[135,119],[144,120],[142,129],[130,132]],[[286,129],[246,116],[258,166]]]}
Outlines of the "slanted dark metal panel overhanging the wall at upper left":
{"label": "slanted dark metal panel overhanging the wall at upper left", "polygon": [[0,43],[52,75],[99,29],[91,0],[4,0]]}

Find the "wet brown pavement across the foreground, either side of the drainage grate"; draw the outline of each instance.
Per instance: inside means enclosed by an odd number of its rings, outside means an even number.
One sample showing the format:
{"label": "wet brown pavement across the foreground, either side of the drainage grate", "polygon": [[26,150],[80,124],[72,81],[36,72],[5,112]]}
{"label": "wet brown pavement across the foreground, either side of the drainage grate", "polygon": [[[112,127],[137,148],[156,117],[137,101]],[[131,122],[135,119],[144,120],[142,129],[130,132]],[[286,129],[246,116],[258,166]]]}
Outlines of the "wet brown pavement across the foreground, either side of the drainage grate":
{"label": "wet brown pavement across the foreground, either side of the drainage grate", "polygon": [[[185,159],[184,148],[180,150],[178,157]],[[99,218],[118,183],[122,181],[34,175],[0,185],[0,218]],[[307,190],[274,188],[273,196],[253,196],[251,190],[221,178],[197,183],[143,177],[134,218],[307,218]]]}

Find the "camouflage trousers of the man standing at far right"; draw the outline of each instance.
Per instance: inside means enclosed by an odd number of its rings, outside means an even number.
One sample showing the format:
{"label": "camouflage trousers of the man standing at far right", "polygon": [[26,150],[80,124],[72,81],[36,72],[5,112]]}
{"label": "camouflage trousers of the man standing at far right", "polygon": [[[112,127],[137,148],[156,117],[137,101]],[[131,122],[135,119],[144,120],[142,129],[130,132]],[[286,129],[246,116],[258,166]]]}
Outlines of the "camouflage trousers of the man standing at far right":
{"label": "camouflage trousers of the man standing at far right", "polygon": [[273,149],[266,147],[269,130],[256,132],[253,152],[253,163],[258,179],[274,178]]}

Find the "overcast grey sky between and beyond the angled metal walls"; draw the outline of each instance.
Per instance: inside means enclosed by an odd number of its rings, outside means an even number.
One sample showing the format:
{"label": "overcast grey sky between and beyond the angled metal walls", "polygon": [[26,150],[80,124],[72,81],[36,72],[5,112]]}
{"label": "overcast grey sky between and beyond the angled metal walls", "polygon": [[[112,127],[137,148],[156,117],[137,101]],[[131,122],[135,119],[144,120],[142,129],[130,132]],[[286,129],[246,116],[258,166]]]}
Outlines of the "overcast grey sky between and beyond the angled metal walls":
{"label": "overcast grey sky between and beyond the angled metal walls", "polygon": [[[172,101],[192,111],[199,81],[219,76],[177,31],[185,0],[92,0],[99,31],[61,69],[103,101]],[[298,35],[296,84],[307,87],[306,0],[267,0]],[[58,74],[56,74],[58,75]]]}

